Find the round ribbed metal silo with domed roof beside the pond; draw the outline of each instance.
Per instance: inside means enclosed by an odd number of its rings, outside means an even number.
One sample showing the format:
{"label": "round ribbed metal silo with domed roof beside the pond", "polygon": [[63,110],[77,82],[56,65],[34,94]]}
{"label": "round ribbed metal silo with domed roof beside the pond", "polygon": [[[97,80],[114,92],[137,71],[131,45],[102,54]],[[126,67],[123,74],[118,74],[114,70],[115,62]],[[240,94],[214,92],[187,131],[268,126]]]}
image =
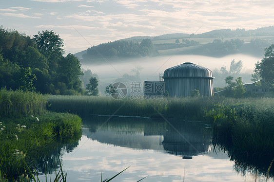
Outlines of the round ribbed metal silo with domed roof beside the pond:
{"label": "round ribbed metal silo with domed roof beside the pond", "polygon": [[203,96],[213,96],[212,71],[202,66],[186,62],[166,69],[163,78],[170,96],[187,97],[195,89]]}

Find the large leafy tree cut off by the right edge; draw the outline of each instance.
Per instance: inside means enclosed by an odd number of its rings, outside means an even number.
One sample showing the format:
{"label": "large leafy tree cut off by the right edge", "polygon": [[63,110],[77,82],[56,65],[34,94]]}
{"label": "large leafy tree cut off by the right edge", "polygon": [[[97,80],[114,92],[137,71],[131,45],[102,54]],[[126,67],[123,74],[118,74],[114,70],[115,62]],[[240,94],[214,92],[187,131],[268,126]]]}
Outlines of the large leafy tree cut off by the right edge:
{"label": "large leafy tree cut off by the right edge", "polygon": [[265,84],[274,87],[274,44],[265,49],[265,58],[255,64],[254,72]]}

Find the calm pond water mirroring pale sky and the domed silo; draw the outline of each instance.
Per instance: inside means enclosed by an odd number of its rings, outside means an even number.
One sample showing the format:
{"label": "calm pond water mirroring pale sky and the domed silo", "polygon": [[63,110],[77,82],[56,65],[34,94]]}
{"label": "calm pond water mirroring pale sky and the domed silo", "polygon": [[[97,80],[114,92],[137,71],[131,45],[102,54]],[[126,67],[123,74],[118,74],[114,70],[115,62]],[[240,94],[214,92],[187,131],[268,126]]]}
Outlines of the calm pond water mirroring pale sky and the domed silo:
{"label": "calm pond water mirroring pale sky and the domed silo", "polygon": [[[254,182],[235,172],[225,152],[211,145],[212,129],[200,122],[83,116],[82,138],[60,157],[69,182],[99,182],[130,166],[113,182]],[[175,129],[176,128],[176,129]],[[193,159],[183,159],[192,156]],[[41,175],[43,179],[43,175]],[[272,180],[268,179],[268,182]]]}

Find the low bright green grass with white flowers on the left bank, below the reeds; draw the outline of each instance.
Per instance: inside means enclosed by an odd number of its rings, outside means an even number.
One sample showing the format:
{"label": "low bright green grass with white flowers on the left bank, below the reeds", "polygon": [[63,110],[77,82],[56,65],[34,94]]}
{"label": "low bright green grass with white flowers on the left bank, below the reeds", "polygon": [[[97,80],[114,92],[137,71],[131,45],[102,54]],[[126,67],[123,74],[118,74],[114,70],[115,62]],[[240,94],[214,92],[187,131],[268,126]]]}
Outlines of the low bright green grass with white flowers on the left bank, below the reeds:
{"label": "low bright green grass with white flowers on the left bank, below the reeds", "polygon": [[8,179],[16,179],[26,170],[24,163],[16,160],[15,150],[26,155],[26,164],[33,170],[49,150],[78,142],[81,137],[81,118],[69,113],[1,117],[0,121],[0,171]]}

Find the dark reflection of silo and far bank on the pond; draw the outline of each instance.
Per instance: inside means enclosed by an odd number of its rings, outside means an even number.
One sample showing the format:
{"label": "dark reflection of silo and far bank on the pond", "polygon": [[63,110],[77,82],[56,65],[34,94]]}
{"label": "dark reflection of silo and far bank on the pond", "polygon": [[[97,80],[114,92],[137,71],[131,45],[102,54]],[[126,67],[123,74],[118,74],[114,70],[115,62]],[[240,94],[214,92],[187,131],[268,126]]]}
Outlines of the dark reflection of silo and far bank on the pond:
{"label": "dark reflection of silo and far bank on the pond", "polygon": [[100,143],[165,150],[182,156],[201,155],[211,149],[211,128],[201,123],[169,119],[171,126],[164,120],[146,118],[113,117],[104,123],[105,120],[105,117],[84,116],[83,134]]}

